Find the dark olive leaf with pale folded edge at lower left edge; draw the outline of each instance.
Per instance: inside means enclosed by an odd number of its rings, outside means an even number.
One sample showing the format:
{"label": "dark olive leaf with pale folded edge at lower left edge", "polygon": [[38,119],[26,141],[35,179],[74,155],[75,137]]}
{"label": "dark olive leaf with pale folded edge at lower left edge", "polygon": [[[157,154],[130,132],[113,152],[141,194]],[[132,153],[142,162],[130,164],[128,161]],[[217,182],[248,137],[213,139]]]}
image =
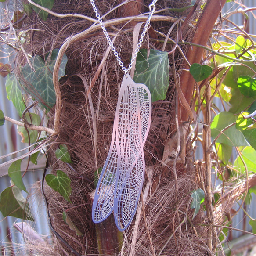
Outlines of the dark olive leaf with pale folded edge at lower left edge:
{"label": "dark olive leaf with pale folded edge at lower left edge", "polygon": [[34,221],[29,209],[29,203],[16,186],[7,187],[1,193],[0,211],[4,217],[13,216],[23,220]]}

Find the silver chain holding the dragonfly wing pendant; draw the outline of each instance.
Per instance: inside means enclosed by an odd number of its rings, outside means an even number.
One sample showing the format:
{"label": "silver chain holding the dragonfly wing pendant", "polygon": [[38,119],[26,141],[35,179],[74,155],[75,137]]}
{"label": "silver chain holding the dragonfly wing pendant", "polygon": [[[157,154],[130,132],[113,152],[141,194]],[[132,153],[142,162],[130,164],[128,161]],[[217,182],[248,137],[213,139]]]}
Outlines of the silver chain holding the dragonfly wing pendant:
{"label": "silver chain holding the dragonfly wing pendant", "polygon": [[130,62],[130,64],[129,64],[129,66],[128,66],[128,69],[126,69],[126,67],[123,65],[123,62],[121,61],[121,58],[119,57],[119,54],[118,54],[118,52],[116,51],[116,49],[115,49],[115,47],[114,47],[114,45],[113,45],[113,43],[112,43],[110,37],[108,36],[108,32],[107,32],[107,30],[106,30],[106,28],[105,28],[105,25],[104,25],[104,23],[103,23],[103,21],[102,21],[102,19],[101,19],[101,16],[100,16],[99,12],[98,12],[98,10],[97,10],[97,7],[96,7],[96,5],[95,5],[95,3],[94,3],[94,0],[90,0],[90,3],[91,3],[91,5],[92,5],[92,7],[93,7],[93,9],[94,9],[94,12],[95,12],[95,14],[96,14],[96,17],[97,17],[97,19],[98,19],[98,21],[99,21],[99,23],[100,23],[100,25],[101,25],[101,29],[103,30],[103,33],[104,33],[104,35],[106,36],[106,38],[107,38],[107,40],[108,40],[108,44],[109,44],[109,46],[111,47],[111,50],[114,52],[114,55],[115,55],[116,60],[119,62],[119,65],[121,66],[123,72],[125,72],[126,75],[129,74],[129,72],[130,72],[130,70],[131,70],[131,68],[132,68],[132,66],[133,66],[133,63],[134,63],[134,61],[135,61],[135,59],[136,59],[136,57],[137,57],[137,54],[138,54],[138,52],[139,52],[139,50],[140,50],[140,48],[141,48],[141,44],[143,43],[144,37],[145,37],[145,35],[146,35],[146,32],[148,31],[148,26],[150,25],[151,17],[152,17],[152,15],[153,15],[154,12],[155,12],[155,3],[156,3],[157,1],[158,1],[158,0],[153,0],[152,3],[151,3],[151,4],[149,5],[149,7],[148,7],[148,8],[149,8],[149,11],[150,11],[149,14],[148,14],[148,19],[147,19],[146,24],[145,24],[145,26],[144,26],[144,29],[143,29],[143,31],[142,31],[141,38],[140,38],[140,40],[139,40],[139,42],[138,42],[138,44],[137,44],[137,48],[136,48],[136,50],[134,51],[133,57],[132,57],[131,62]]}

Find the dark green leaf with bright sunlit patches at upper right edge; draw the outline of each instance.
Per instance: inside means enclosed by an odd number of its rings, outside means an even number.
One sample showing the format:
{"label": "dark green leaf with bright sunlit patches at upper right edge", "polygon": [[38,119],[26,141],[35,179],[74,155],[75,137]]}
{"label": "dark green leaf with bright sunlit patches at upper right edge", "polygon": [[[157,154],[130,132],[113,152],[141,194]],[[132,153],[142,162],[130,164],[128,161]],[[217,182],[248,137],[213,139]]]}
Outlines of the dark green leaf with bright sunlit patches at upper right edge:
{"label": "dark green leaf with bright sunlit patches at upper right edge", "polygon": [[256,96],[256,78],[250,76],[239,76],[238,77],[238,89],[245,97]]}

